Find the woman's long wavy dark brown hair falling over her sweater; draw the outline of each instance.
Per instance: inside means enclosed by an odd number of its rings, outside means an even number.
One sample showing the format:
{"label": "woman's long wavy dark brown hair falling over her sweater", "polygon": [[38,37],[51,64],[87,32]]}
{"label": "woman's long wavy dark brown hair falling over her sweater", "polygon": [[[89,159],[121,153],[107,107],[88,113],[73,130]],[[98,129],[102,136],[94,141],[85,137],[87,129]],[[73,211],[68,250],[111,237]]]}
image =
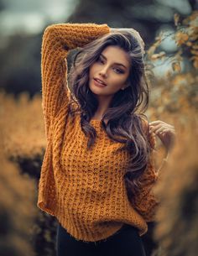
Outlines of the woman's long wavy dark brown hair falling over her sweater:
{"label": "woman's long wavy dark brown hair falling over her sweater", "polygon": [[[88,136],[87,148],[90,149],[96,139],[96,129],[91,126],[91,118],[98,107],[97,98],[89,88],[89,71],[109,45],[125,50],[131,61],[128,87],[117,91],[102,118],[102,127],[109,138],[123,144],[121,149],[128,149],[130,159],[124,175],[130,197],[141,184],[139,178],[148,166],[151,144],[148,129],[143,127],[143,114],[148,108],[148,81],[143,63],[143,44],[131,32],[114,32],[103,35],[81,48],[74,57],[70,69],[71,103],[77,103],[73,112],[81,112],[81,129]],[[71,108],[70,108],[71,109]],[[72,111],[71,111],[72,112]],[[104,119],[107,118],[107,124]]]}

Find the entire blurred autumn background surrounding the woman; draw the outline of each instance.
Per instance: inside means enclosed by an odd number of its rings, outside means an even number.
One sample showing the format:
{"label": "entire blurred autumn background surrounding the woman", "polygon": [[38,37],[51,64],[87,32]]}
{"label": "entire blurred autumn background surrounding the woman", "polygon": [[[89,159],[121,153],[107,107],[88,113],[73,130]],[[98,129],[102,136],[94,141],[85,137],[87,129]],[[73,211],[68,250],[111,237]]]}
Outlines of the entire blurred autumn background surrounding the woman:
{"label": "entire blurred autumn background surrounding the woman", "polygon": [[[156,222],[143,236],[147,256],[198,251],[198,2],[196,0],[0,0],[0,255],[55,255],[55,218],[36,207],[46,140],[40,50],[56,23],[137,29],[145,42],[150,121],[175,126],[169,163],[155,187]],[[70,60],[69,60],[70,61]],[[157,138],[156,168],[164,156]]]}

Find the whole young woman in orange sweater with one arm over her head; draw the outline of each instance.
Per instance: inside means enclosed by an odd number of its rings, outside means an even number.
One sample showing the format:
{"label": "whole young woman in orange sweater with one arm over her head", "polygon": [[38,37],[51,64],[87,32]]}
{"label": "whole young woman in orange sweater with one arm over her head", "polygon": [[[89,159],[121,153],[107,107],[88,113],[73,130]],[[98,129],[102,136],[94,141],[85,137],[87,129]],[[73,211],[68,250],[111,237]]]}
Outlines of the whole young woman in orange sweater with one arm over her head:
{"label": "whole young woman in orange sweater with one arm over her head", "polygon": [[[76,48],[68,79],[66,56]],[[143,52],[134,29],[53,24],[44,30],[47,147],[38,206],[58,221],[58,256],[145,255],[141,236],[159,205],[152,194],[154,133],[169,151],[174,128],[155,121],[149,133]]]}

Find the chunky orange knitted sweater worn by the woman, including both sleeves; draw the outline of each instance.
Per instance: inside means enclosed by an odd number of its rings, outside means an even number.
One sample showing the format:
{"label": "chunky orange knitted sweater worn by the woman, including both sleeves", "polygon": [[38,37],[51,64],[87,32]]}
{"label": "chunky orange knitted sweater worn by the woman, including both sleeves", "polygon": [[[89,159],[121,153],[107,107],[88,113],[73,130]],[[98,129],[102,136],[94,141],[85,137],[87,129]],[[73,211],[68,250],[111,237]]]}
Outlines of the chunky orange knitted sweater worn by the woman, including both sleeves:
{"label": "chunky orange knitted sweater worn by the woman, including both sleeves", "polygon": [[[68,51],[109,32],[107,24],[52,24],[44,30],[41,50],[47,144],[37,206],[55,216],[77,240],[92,242],[111,236],[123,223],[137,227],[142,236],[159,204],[152,194],[158,177],[153,159],[131,203],[123,180],[129,152],[117,151],[123,144],[109,138],[102,121],[93,119],[96,142],[86,149],[88,138],[81,130],[80,114],[72,116],[68,111],[70,89],[64,83]],[[154,145],[154,134],[150,138]]]}

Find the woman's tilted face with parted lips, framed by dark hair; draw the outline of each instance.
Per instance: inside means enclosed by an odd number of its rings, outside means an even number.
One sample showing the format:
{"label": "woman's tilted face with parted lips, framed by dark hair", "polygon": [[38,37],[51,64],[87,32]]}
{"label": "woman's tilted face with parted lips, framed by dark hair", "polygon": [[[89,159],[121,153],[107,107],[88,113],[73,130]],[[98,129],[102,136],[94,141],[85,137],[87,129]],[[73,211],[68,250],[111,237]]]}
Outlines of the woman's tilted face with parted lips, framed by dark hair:
{"label": "woman's tilted face with parted lips, framed by dark hair", "polygon": [[107,46],[90,67],[90,90],[96,95],[113,95],[126,86],[129,70],[128,53],[119,46]]}

